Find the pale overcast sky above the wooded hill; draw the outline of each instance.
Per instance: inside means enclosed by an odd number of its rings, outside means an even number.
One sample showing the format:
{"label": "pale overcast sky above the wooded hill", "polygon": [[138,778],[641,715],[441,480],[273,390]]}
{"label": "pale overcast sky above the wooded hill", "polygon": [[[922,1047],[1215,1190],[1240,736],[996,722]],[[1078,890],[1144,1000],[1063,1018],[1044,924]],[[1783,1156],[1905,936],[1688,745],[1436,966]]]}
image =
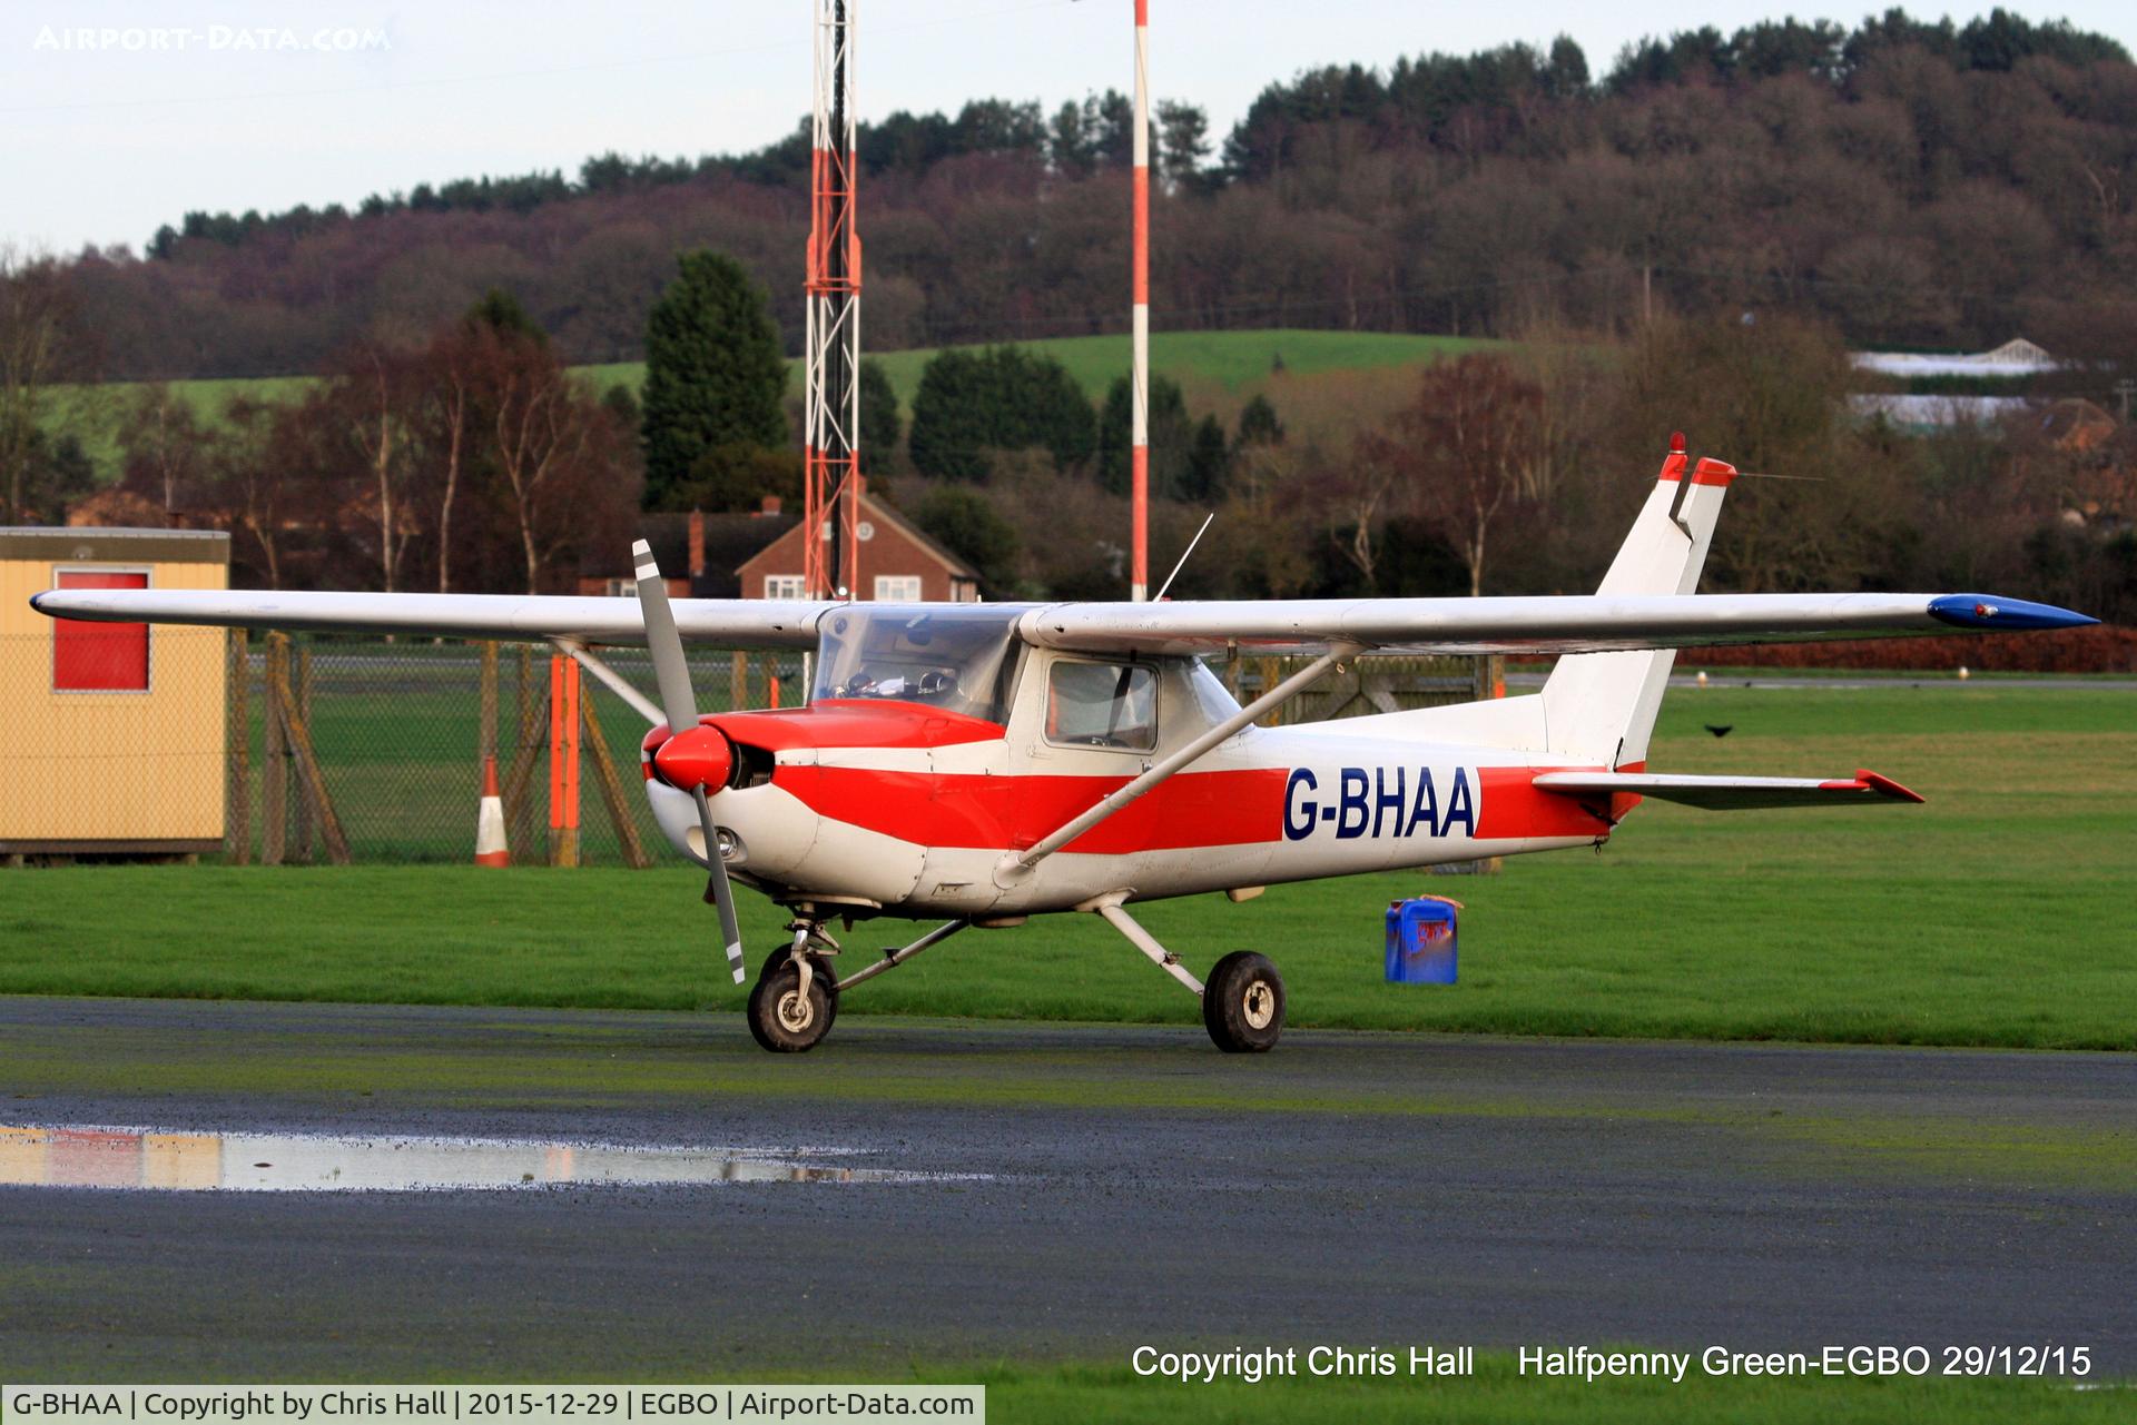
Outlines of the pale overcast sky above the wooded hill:
{"label": "pale overcast sky above the wooded hill", "polygon": [[[1885,2],[1801,13],[1853,24]],[[808,111],[812,9],[9,0],[0,241],[139,248],[194,207],[355,205],[425,179],[575,173],[603,150],[750,150]],[[2007,9],[2066,17],[2137,49],[2128,0]],[[1787,4],[1152,0],[1152,90],[1203,105],[1222,135],[1265,83],[1312,64],[1385,66],[1428,49],[1571,34],[1601,73],[1645,32],[1733,30]],[[987,94],[1054,107],[1130,85],[1130,0],[865,0],[859,17],[863,118],[955,111]]]}

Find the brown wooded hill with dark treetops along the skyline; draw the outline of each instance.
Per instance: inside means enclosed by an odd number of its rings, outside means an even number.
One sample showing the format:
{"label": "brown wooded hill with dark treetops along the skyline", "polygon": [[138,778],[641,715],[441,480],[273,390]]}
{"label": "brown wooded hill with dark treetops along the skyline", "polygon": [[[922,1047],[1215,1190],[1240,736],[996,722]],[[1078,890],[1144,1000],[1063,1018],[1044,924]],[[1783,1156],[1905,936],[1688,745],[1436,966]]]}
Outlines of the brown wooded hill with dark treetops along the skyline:
{"label": "brown wooded hill with dark treetops along the skyline", "polygon": [[[865,126],[870,344],[1122,329],[1130,126],[1116,92]],[[1601,79],[1564,38],[1428,53],[1272,83],[1222,141],[1180,100],[1154,128],[1171,329],[1631,333],[1754,308],[1855,344],[2026,333],[2101,372],[2133,359],[2137,66],[2062,24],[1690,30]],[[605,154],[353,212],[190,214],[62,280],[113,378],[318,370],[492,286],[571,361],[611,361],[641,355],[673,254],[712,246],[771,293],[793,353],[806,175],[799,128],[752,154]]]}

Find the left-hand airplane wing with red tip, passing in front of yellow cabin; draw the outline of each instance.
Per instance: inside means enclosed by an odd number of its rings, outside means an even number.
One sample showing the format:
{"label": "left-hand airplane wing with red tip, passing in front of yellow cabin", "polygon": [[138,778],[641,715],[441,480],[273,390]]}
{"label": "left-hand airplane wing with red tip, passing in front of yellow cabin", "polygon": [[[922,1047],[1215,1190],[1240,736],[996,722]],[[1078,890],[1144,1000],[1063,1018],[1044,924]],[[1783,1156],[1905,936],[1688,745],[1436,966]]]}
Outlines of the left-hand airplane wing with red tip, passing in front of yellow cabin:
{"label": "left-hand airplane wing with red tip, passing in front of yellow cabin", "polygon": [[[286,594],[274,590],[47,590],[30,607],[51,617],[222,624],[310,632],[421,632],[457,639],[645,643],[637,598],[547,594]],[[825,602],[677,598],[684,639],[720,647],[816,647]]]}

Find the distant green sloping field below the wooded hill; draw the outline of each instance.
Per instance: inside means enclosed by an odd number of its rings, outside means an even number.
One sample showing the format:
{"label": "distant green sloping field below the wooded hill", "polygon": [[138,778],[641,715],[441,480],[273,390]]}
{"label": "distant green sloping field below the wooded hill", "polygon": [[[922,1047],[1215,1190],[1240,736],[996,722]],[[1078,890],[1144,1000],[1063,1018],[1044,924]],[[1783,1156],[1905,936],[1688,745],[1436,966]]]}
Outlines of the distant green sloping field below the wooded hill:
{"label": "distant green sloping field below the wooded hill", "polygon": [[[1116,376],[1128,372],[1126,335],[1045,338],[1039,342],[1019,342],[1019,346],[1056,357],[1094,402],[1105,397],[1105,389]],[[1316,372],[1378,370],[1436,361],[1442,355],[1479,346],[1498,346],[1498,342],[1483,338],[1391,335],[1385,331],[1160,331],[1150,338],[1150,365],[1154,372],[1175,380],[1199,380],[1237,391],[1267,376],[1278,357],[1282,357],[1286,372],[1310,376]],[[870,355],[883,363],[885,374],[898,389],[898,400],[910,408],[912,393],[921,385],[921,367],[927,365],[936,350],[940,348]],[[600,389],[622,382],[637,393],[645,385],[643,361],[613,361],[575,370]],[[789,361],[786,374],[789,391],[799,397],[801,363]],[[222,408],[235,395],[291,402],[301,397],[310,385],[310,376],[259,376],[173,380],[171,389],[186,397],[194,412],[207,421],[220,421]],[[128,382],[109,382],[77,389],[71,393],[71,400],[62,402],[64,412],[58,429],[81,438],[100,479],[118,476],[120,410],[130,391]]]}

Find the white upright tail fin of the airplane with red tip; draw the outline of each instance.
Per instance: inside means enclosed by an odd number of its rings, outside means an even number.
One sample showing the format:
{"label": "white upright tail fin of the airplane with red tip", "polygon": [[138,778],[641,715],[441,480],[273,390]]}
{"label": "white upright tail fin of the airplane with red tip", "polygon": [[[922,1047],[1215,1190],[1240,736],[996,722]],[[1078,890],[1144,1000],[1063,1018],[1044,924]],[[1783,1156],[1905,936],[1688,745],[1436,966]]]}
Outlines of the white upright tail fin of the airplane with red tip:
{"label": "white upright tail fin of the airplane with red tip", "polygon": [[[1598,594],[1690,594],[1707,562],[1714,523],[1735,466],[1684,455],[1671,436],[1663,476],[1641,506]],[[1648,763],[1648,735],[1663,707],[1675,649],[1637,654],[1566,654],[1543,684],[1543,726],[1551,752],[1594,758],[1605,767]]]}

